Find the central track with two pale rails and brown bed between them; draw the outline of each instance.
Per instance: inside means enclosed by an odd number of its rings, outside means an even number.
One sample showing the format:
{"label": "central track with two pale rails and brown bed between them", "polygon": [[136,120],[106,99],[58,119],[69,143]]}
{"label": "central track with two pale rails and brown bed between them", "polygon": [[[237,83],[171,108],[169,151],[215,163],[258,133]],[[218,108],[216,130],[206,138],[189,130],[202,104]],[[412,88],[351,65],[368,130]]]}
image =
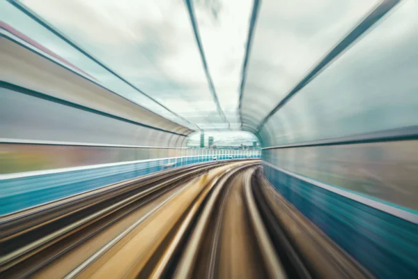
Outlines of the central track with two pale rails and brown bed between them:
{"label": "central track with two pale rails and brown bed between them", "polygon": [[285,278],[270,239],[248,199],[253,168],[225,176],[203,208],[175,278]]}

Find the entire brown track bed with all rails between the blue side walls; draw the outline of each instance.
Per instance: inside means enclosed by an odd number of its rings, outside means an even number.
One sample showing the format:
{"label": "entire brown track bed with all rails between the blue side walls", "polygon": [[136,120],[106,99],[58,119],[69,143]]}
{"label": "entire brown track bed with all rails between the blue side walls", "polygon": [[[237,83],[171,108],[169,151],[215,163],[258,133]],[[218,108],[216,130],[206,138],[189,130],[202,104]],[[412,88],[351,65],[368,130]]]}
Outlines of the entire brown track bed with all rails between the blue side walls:
{"label": "entire brown track bed with all rails between the blue side walls", "polygon": [[1,278],[368,278],[254,160],[205,164],[0,219]]}

